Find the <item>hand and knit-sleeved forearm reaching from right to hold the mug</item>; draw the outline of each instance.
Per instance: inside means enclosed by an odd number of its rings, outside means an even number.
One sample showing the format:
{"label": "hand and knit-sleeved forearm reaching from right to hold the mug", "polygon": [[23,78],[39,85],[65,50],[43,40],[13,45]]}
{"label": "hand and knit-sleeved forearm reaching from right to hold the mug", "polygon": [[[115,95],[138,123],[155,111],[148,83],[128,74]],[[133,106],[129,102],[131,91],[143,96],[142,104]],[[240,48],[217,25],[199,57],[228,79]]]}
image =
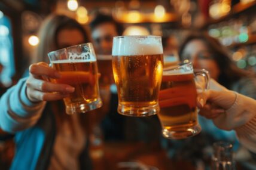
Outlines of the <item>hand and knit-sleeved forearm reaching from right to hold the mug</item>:
{"label": "hand and knit-sleeved forearm reaching from right to hold the mug", "polygon": [[[256,153],[256,100],[228,90],[205,91],[199,94],[198,99],[203,100],[203,104],[197,103],[200,109],[205,107],[205,101],[209,105],[214,104],[215,108],[223,109],[223,113],[211,118],[214,124],[220,129],[234,129],[240,143]],[[211,111],[199,113],[206,116],[206,114],[210,115]]]}

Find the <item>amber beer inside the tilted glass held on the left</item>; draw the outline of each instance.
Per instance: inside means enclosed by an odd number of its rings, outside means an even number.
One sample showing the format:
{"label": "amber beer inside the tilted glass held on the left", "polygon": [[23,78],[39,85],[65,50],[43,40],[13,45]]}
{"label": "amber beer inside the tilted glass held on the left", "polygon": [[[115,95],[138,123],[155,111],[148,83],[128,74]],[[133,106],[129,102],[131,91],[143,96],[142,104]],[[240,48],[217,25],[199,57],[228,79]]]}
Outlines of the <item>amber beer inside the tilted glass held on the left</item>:
{"label": "amber beer inside the tilted glass held on the left", "polygon": [[53,67],[61,74],[60,79],[56,79],[58,84],[68,84],[75,88],[75,91],[64,98],[66,106],[97,101],[97,63],[77,62],[66,63],[65,61],[53,62]]}

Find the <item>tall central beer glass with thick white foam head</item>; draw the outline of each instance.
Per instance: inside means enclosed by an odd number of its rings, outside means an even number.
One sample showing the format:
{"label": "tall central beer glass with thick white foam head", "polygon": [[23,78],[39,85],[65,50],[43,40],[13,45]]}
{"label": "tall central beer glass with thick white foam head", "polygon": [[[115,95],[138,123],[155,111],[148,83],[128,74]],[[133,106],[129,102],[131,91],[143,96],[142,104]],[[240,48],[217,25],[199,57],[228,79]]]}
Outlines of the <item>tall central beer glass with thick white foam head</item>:
{"label": "tall central beer glass with thick white foam head", "polygon": [[161,37],[114,37],[112,66],[118,92],[118,113],[126,116],[159,113],[163,72]]}

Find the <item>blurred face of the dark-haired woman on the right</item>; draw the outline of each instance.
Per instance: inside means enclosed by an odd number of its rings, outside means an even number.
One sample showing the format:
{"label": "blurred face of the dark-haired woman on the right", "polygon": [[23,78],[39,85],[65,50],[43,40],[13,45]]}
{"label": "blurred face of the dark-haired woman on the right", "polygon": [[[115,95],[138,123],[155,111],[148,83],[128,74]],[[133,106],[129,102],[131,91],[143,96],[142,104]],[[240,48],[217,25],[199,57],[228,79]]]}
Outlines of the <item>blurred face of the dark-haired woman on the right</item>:
{"label": "blurred face of the dark-haired woman on the right", "polygon": [[212,55],[202,40],[194,39],[185,46],[181,58],[182,60],[190,60],[194,69],[208,70],[211,78],[217,80],[220,75],[220,68]]}

